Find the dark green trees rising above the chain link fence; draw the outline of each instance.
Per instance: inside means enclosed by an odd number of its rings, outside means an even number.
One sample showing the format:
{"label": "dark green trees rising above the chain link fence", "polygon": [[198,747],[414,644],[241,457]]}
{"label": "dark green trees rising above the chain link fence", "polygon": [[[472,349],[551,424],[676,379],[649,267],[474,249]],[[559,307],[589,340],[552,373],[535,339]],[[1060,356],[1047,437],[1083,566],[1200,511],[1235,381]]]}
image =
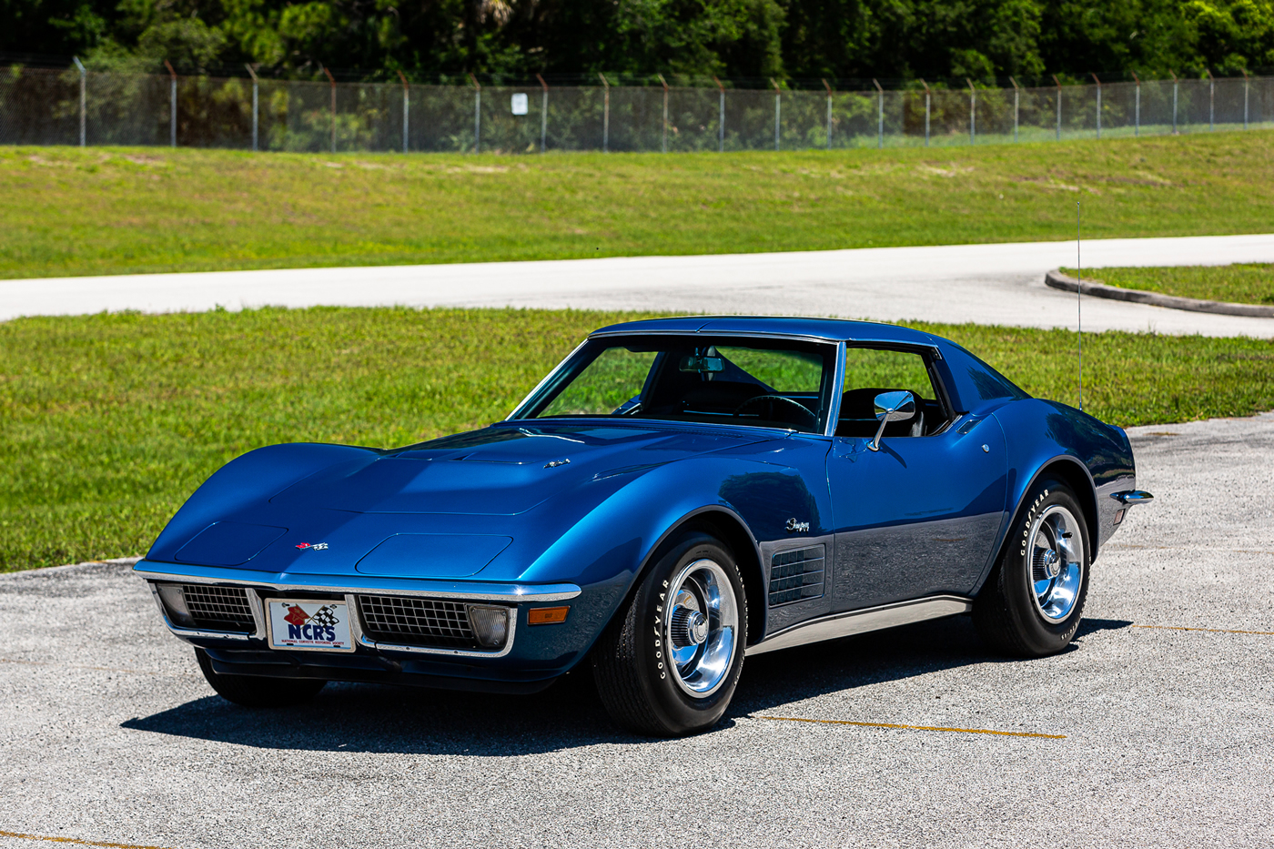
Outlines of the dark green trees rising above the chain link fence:
{"label": "dark green trees rising above the chain link fence", "polygon": [[4,0],[0,51],[290,75],[1087,79],[1274,65],[1274,0]]}

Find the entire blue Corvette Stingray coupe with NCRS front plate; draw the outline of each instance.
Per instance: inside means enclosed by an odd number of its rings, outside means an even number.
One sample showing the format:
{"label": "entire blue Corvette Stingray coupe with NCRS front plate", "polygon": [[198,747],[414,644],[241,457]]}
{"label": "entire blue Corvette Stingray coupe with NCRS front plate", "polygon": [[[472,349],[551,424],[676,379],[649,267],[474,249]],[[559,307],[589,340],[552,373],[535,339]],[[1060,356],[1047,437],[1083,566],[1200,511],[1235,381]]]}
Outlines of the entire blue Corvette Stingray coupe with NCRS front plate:
{"label": "entire blue Corvette Stingray coupe with NCRS front plate", "polygon": [[245,454],[136,571],[241,705],[587,664],[617,723],[668,736],[716,723],[762,651],[958,613],[1060,651],[1149,498],[1122,430],[945,339],[656,319],[598,330],[490,427]]}

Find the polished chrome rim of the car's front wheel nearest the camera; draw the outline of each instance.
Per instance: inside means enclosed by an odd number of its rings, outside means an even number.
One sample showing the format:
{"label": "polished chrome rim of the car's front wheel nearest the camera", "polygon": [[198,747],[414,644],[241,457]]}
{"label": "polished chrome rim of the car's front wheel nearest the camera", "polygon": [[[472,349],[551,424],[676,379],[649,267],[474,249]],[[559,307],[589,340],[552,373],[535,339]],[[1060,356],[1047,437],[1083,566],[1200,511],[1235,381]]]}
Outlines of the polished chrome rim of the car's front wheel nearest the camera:
{"label": "polished chrome rim of the car's front wheel nearest the camera", "polygon": [[693,699],[720,690],[734,664],[739,634],[739,604],[720,563],[697,560],[668,583],[662,631],[676,686]]}

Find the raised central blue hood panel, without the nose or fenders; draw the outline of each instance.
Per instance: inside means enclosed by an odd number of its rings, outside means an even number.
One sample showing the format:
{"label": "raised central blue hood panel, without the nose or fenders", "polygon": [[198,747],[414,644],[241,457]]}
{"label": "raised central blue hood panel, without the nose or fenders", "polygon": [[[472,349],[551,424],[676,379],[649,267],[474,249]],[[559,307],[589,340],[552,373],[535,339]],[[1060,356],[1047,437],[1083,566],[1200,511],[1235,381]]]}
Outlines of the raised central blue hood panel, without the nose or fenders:
{"label": "raised central blue hood panel, without the nose or fenders", "polygon": [[330,467],[270,498],[350,512],[517,515],[589,479],[773,439],[646,427],[489,427]]}

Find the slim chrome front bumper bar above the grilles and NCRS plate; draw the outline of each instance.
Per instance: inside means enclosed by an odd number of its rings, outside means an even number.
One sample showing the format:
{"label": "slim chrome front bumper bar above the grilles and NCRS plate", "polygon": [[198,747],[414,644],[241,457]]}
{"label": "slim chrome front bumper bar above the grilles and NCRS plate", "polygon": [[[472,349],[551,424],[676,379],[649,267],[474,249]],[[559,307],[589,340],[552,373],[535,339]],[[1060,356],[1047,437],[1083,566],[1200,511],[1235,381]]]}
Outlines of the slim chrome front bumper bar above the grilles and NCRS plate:
{"label": "slim chrome front bumper bar above the grilles and NCRS plate", "polygon": [[[223,566],[138,561],[132,567],[148,581],[234,584],[287,591],[357,593],[359,595],[415,595],[468,602],[564,602],[582,591],[575,584],[497,584],[438,579],[385,579],[371,575],[287,575]],[[326,583],[321,583],[326,579]]]}

